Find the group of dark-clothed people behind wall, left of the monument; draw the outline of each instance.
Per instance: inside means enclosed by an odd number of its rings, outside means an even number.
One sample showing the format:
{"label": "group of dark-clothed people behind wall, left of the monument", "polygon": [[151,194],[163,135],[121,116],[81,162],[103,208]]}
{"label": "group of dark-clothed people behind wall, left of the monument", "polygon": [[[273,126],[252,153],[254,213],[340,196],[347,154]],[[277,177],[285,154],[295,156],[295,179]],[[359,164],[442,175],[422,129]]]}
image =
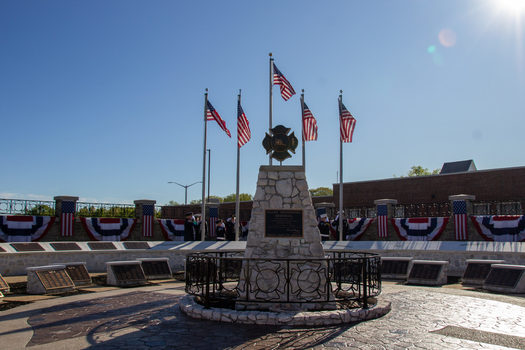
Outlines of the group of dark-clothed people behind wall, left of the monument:
{"label": "group of dark-clothed people behind wall, left of the monument", "polygon": [[[200,241],[202,216],[200,214],[186,213],[184,221],[184,240]],[[235,215],[227,219],[217,219],[215,232],[210,235],[208,223],[205,223],[205,240],[207,241],[235,241],[235,225],[239,225],[239,240],[246,240],[248,235],[248,225],[241,226],[237,223]]]}

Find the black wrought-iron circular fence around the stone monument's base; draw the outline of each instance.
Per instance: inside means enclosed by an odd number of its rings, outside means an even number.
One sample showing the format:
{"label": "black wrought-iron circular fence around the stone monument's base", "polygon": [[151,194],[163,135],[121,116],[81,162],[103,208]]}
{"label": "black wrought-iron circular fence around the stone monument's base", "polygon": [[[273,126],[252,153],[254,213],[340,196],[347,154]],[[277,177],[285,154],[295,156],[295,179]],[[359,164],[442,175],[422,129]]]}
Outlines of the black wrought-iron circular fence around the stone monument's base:
{"label": "black wrought-iron circular fence around the stone monument's base", "polygon": [[188,255],[186,293],[206,307],[230,308],[239,302],[338,302],[348,308],[368,308],[381,293],[378,254],[336,252],[322,259],[260,259],[243,254]]}

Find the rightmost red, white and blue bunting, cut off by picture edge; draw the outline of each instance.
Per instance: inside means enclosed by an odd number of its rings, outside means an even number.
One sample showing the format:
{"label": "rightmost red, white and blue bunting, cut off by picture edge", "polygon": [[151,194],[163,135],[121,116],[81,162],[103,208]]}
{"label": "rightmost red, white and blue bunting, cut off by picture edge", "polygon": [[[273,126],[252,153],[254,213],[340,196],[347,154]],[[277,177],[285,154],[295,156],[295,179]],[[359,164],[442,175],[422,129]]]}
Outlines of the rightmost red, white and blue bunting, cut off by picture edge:
{"label": "rightmost red, white and blue bunting, cut off by picture edge", "polygon": [[470,219],[478,233],[487,241],[525,241],[525,217],[523,215],[471,216]]}

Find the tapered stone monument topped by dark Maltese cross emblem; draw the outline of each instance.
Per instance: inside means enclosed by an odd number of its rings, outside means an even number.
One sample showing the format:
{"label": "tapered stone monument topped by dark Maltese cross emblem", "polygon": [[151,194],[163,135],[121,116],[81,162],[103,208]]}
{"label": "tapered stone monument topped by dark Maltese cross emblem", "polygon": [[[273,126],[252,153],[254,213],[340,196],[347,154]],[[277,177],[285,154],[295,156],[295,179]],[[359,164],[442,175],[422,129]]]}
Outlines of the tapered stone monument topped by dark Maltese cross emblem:
{"label": "tapered stone monument topped by dark Maltese cross emblem", "polygon": [[[271,144],[268,137],[266,145]],[[282,146],[282,135],[278,141]],[[284,141],[286,145],[285,138]],[[292,147],[296,141],[290,142]],[[275,153],[285,156],[282,148]],[[241,297],[249,301],[237,302],[238,309],[335,308],[327,279],[328,266],[321,260],[325,254],[304,167],[259,168],[249,227],[245,258],[258,260],[243,265],[238,288]]]}

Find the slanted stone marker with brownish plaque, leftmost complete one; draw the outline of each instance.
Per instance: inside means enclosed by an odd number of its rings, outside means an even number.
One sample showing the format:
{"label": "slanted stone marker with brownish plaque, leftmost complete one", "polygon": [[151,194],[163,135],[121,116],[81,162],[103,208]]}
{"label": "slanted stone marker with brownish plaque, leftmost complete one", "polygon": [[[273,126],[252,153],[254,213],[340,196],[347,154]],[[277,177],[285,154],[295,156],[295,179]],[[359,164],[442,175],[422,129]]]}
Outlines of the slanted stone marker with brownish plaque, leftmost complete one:
{"label": "slanted stone marker with brownish plaque, leftmost complete one", "polygon": [[26,270],[29,294],[63,293],[75,289],[65,265],[28,267]]}

